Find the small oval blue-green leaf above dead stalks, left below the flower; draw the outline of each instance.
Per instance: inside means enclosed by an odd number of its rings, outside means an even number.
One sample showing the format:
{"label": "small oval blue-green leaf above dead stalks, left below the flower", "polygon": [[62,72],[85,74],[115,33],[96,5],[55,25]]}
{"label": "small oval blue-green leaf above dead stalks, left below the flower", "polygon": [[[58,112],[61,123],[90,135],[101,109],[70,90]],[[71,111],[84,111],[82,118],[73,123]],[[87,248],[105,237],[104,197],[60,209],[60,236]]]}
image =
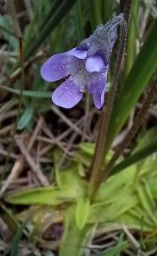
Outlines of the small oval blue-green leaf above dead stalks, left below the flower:
{"label": "small oval blue-green leaf above dead stalks, left below the flower", "polygon": [[25,109],[25,112],[21,115],[18,124],[17,124],[17,129],[22,130],[24,129],[27,125],[29,125],[31,119],[33,116],[33,108],[28,107]]}

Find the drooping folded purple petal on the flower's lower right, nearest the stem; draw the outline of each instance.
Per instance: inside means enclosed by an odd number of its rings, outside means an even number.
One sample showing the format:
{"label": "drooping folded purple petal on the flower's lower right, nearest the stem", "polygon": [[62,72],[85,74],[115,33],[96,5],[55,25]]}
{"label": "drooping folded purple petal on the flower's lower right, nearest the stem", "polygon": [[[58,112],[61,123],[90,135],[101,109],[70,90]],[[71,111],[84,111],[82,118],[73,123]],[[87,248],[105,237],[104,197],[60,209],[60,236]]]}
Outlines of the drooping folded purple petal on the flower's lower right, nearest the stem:
{"label": "drooping folded purple petal on the flower's lower right, nearest the stem", "polygon": [[104,93],[107,80],[107,72],[103,74],[94,74],[91,78],[87,90],[93,94],[93,102],[96,108],[100,109],[104,105]]}

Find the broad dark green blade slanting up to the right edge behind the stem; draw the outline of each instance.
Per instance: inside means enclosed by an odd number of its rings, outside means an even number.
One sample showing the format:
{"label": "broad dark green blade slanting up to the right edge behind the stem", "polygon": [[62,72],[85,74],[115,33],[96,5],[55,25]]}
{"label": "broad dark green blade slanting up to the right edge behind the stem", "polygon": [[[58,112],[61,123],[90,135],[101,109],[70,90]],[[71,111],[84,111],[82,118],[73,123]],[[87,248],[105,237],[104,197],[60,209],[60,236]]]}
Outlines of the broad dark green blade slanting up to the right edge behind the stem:
{"label": "broad dark green blade slanting up to the right edge behind the stem", "polygon": [[115,138],[115,135],[125,124],[129,113],[156,71],[157,37],[154,37],[156,31],[157,19],[154,20],[154,26],[152,26],[149,36],[144,42],[143,47],[137,55],[132,69],[126,78],[125,84],[115,100],[109,122],[109,133],[107,137],[108,148]]}

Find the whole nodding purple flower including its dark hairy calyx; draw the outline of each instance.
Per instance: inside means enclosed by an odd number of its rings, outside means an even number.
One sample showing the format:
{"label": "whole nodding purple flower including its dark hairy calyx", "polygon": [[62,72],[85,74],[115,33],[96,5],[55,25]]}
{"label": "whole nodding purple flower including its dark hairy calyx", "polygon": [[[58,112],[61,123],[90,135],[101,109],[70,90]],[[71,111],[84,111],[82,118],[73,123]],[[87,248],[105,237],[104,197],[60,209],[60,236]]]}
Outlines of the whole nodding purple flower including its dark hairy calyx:
{"label": "whole nodding purple flower including its dark hairy calyx", "polygon": [[84,39],[76,48],[53,55],[42,65],[42,79],[48,82],[64,79],[53,92],[54,104],[72,108],[88,91],[93,96],[95,107],[103,107],[109,58],[121,19],[123,15],[97,26],[93,35]]}

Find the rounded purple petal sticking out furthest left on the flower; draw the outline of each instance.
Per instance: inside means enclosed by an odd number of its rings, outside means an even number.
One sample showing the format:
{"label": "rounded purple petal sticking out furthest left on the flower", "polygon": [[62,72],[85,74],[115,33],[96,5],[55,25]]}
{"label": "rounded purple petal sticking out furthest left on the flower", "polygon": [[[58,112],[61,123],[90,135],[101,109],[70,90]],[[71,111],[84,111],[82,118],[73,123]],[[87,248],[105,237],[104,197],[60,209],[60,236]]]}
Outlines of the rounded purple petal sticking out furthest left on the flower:
{"label": "rounded purple petal sticking out furthest left on the flower", "polygon": [[69,61],[70,60],[69,56],[67,56],[67,53],[53,55],[41,67],[42,79],[48,82],[54,82],[59,79],[63,79],[69,74],[66,68],[66,65]]}

